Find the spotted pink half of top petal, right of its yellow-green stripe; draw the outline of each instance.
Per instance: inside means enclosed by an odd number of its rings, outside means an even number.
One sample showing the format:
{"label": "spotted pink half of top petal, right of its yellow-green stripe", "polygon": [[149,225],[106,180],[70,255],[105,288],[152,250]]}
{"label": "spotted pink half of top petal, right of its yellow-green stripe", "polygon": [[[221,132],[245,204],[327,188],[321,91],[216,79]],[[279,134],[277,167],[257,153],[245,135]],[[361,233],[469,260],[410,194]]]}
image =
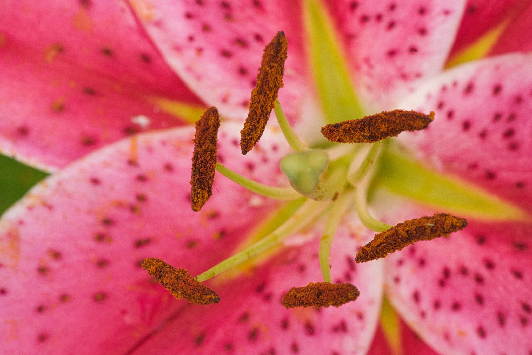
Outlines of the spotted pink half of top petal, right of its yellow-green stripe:
{"label": "spotted pink half of top petal, right of its yellow-green stripe", "polygon": [[328,0],[368,111],[395,109],[420,79],[442,70],[464,1]]}

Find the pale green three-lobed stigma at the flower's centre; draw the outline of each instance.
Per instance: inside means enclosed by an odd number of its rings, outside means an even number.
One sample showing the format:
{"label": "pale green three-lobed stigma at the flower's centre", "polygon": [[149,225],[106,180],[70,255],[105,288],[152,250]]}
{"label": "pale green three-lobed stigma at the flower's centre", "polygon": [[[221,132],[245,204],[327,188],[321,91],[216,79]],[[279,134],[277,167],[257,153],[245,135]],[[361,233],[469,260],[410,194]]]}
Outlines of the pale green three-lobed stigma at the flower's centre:
{"label": "pale green three-lobed stigma at the flower's centre", "polygon": [[283,156],[279,167],[288,177],[290,185],[300,194],[308,196],[318,187],[320,175],[328,164],[327,153],[310,150]]}

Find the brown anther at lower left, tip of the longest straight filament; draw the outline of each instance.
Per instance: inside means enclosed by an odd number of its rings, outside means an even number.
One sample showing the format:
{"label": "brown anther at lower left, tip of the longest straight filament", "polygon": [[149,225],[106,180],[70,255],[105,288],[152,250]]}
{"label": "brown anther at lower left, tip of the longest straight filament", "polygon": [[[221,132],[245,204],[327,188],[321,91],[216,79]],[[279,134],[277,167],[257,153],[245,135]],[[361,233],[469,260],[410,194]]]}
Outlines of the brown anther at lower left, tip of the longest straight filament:
{"label": "brown anther at lower left, tip of the longest straight filament", "polygon": [[185,269],[176,269],[169,263],[157,258],[146,258],[142,268],[154,276],[164,288],[177,299],[184,298],[190,303],[218,303],[220,297],[209,287],[199,283]]}

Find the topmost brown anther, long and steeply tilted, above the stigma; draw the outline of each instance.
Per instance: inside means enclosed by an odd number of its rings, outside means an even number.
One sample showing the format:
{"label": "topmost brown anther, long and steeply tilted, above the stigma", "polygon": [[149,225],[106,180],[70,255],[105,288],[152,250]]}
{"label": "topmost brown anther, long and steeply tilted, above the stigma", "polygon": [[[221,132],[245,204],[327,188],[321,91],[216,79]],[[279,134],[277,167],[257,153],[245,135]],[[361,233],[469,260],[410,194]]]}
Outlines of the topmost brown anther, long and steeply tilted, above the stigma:
{"label": "topmost brown anther, long and steeply tilted, above the stigma", "polygon": [[240,131],[240,148],[244,155],[259,142],[270,118],[279,88],[283,85],[287,48],[288,42],[282,31],[277,32],[264,48],[257,84],[251,92],[250,112],[247,114],[244,128]]}

